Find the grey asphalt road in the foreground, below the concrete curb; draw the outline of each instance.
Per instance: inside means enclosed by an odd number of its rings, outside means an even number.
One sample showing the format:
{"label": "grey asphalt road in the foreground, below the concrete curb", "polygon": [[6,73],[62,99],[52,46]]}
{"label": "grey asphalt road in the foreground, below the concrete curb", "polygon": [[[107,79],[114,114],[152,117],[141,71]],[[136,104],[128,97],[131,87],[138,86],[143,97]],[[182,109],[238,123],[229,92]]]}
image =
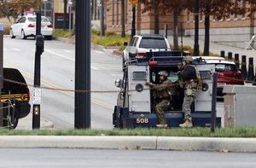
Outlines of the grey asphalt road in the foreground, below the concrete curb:
{"label": "grey asphalt road in the foreground, below the concrete curb", "polygon": [[255,154],[82,148],[0,148],[0,167],[255,167]]}

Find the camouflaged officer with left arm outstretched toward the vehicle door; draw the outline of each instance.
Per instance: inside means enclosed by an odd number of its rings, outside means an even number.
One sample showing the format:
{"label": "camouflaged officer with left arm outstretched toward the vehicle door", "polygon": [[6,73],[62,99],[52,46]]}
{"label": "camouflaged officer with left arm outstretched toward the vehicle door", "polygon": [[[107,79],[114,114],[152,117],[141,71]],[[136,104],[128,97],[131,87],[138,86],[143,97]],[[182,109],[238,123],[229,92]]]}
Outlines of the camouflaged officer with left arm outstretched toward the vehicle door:
{"label": "camouflaged officer with left arm outstretched toward the vehicle door", "polygon": [[159,125],[156,127],[166,128],[167,122],[165,118],[164,110],[167,110],[171,106],[171,91],[169,90],[172,87],[172,81],[167,77],[169,76],[168,72],[160,71],[160,84],[152,84],[147,82],[152,89],[156,91],[156,97],[159,100],[159,103],[155,106],[155,112],[159,121]]}

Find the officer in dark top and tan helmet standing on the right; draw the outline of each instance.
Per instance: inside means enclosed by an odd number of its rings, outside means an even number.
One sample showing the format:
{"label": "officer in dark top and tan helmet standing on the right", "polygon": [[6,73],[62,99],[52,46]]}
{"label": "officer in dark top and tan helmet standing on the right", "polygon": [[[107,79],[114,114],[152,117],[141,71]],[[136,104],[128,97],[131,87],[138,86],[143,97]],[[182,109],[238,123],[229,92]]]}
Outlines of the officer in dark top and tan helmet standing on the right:
{"label": "officer in dark top and tan helmet standing on the right", "polygon": [[191,104],[195,100],[195,94],[197,92],[197,77],[195,67],[191,65],[193,58],[191,56],[183,57],[183,70],[177,72],[178,78],[183,81],[183,112],[184,112],[184,123],[179,125],[183,128],[192,127],[191,118]]}

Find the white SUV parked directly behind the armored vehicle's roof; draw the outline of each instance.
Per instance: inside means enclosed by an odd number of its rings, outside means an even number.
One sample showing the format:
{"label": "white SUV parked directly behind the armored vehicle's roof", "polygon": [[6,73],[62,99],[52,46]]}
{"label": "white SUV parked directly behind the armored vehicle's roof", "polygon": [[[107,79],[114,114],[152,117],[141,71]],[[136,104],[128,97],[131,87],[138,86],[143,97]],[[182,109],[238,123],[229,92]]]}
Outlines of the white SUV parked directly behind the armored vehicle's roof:
{"label": "white SUV parked directly behind the armored vehicle's roof", "polygon": [[131,60],[130,55],[135,57],[143,57],[146,52],[171,50],[168,40],[162,35],[135,35],[131,38],[131,43],[124,43],[126,48],[123,51],[123,64],[125,61]]}

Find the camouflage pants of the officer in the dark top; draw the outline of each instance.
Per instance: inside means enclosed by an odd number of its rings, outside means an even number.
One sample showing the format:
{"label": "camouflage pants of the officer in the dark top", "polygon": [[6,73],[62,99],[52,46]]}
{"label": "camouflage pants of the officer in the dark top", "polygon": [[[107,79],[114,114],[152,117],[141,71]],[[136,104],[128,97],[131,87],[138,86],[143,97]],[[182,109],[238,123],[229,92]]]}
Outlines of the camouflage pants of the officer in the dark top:
{"label": "camouflage pants of the officer in the dark top", "polygon": [[184,99],[183,99],[183,112],[184,112],[184,120],[189,120],[192,122],[191,117],[191,105],[195,100],[196,90],[192,89],[192,95],[187,94],[187,91],[184,90]]}

